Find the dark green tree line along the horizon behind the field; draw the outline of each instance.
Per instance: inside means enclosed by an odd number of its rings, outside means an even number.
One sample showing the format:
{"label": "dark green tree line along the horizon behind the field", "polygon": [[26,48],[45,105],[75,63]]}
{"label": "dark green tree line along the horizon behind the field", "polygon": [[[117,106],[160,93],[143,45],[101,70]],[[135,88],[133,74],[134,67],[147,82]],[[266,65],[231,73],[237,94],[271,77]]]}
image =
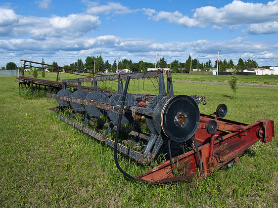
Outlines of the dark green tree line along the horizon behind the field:
{"label": "dark green tree line along the horizon behind the field", "polygon": [[[190,70],[197,69],[199,71],[209,71],[213,68],[217,68],[217,62],[215,61],[214,65],[211,60],[208,60],[206,62],[199,62],[198,59],[194,58],[192,59],[189,55],[185,63],[179,62],[178,60],[174,60],[171,63],[167,63],[164,57],[160,58],[156,63],[156,68],[171,68],[172,73],[189,73]],[[44,59],[42,60],[42,64],[44,64]],[[45,67],[50,72],[56,72],[58,69],[57,62],[52,62],[53,67]],[[243,61],[242,58],[239,58],[237,63],[233,63],[232,59],[227,61],[224,59],[224,61],[219,60],[219,71],[225,72],[227,69],[236,69],[237,71],[242,71],[245,68],[257,68],[258,63],[254,60],[251,60],[248,58],[247,60]],[[57,66],[57,67],[55,67]],[[71,63],[70,65],[64,65],[63,67],[69,68],[69,69],[77,69],[81,71],[90,71],[90,72],[96,72],[96,73],[103,73],[106,72],[116,72],[117,69],[130,69],[132,72],[140,72],[140,71],[147,71],[148,68],[154,68],[155,63],[150,62],[132,62],[132,60],[128,59],[122,59],[117,60],[114,59],[113,63],[109,63],[108,60],[104,62],[103,58],[100,56],[88,56],[85,60],[85,63],[80,58],[76,62]],[[31,69],[34,71],[34,68],[32,69],[32,66],[25,67],[26,69]],[[22,66],[17,67],[15,63],[9,62],[6,64],[6,67],[1,67],[0,70],[14,70],[19,69],[22,71]]]}

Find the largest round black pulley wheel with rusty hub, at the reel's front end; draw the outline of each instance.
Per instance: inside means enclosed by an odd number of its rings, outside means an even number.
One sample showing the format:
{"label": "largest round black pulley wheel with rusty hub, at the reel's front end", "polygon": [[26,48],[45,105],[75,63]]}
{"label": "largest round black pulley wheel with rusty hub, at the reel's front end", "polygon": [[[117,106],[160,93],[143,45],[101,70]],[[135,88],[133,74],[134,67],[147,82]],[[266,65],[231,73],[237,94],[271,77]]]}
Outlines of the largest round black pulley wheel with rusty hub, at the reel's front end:
{"label": "largest round black pulley wheel with rusty hub, at the reel's front end", "polygon": [[161,127],[165,135],[184,142],[196,132],[200,121],[200,111],[196,102],[189,96],[177,95],[164,105],[161,114]]}

